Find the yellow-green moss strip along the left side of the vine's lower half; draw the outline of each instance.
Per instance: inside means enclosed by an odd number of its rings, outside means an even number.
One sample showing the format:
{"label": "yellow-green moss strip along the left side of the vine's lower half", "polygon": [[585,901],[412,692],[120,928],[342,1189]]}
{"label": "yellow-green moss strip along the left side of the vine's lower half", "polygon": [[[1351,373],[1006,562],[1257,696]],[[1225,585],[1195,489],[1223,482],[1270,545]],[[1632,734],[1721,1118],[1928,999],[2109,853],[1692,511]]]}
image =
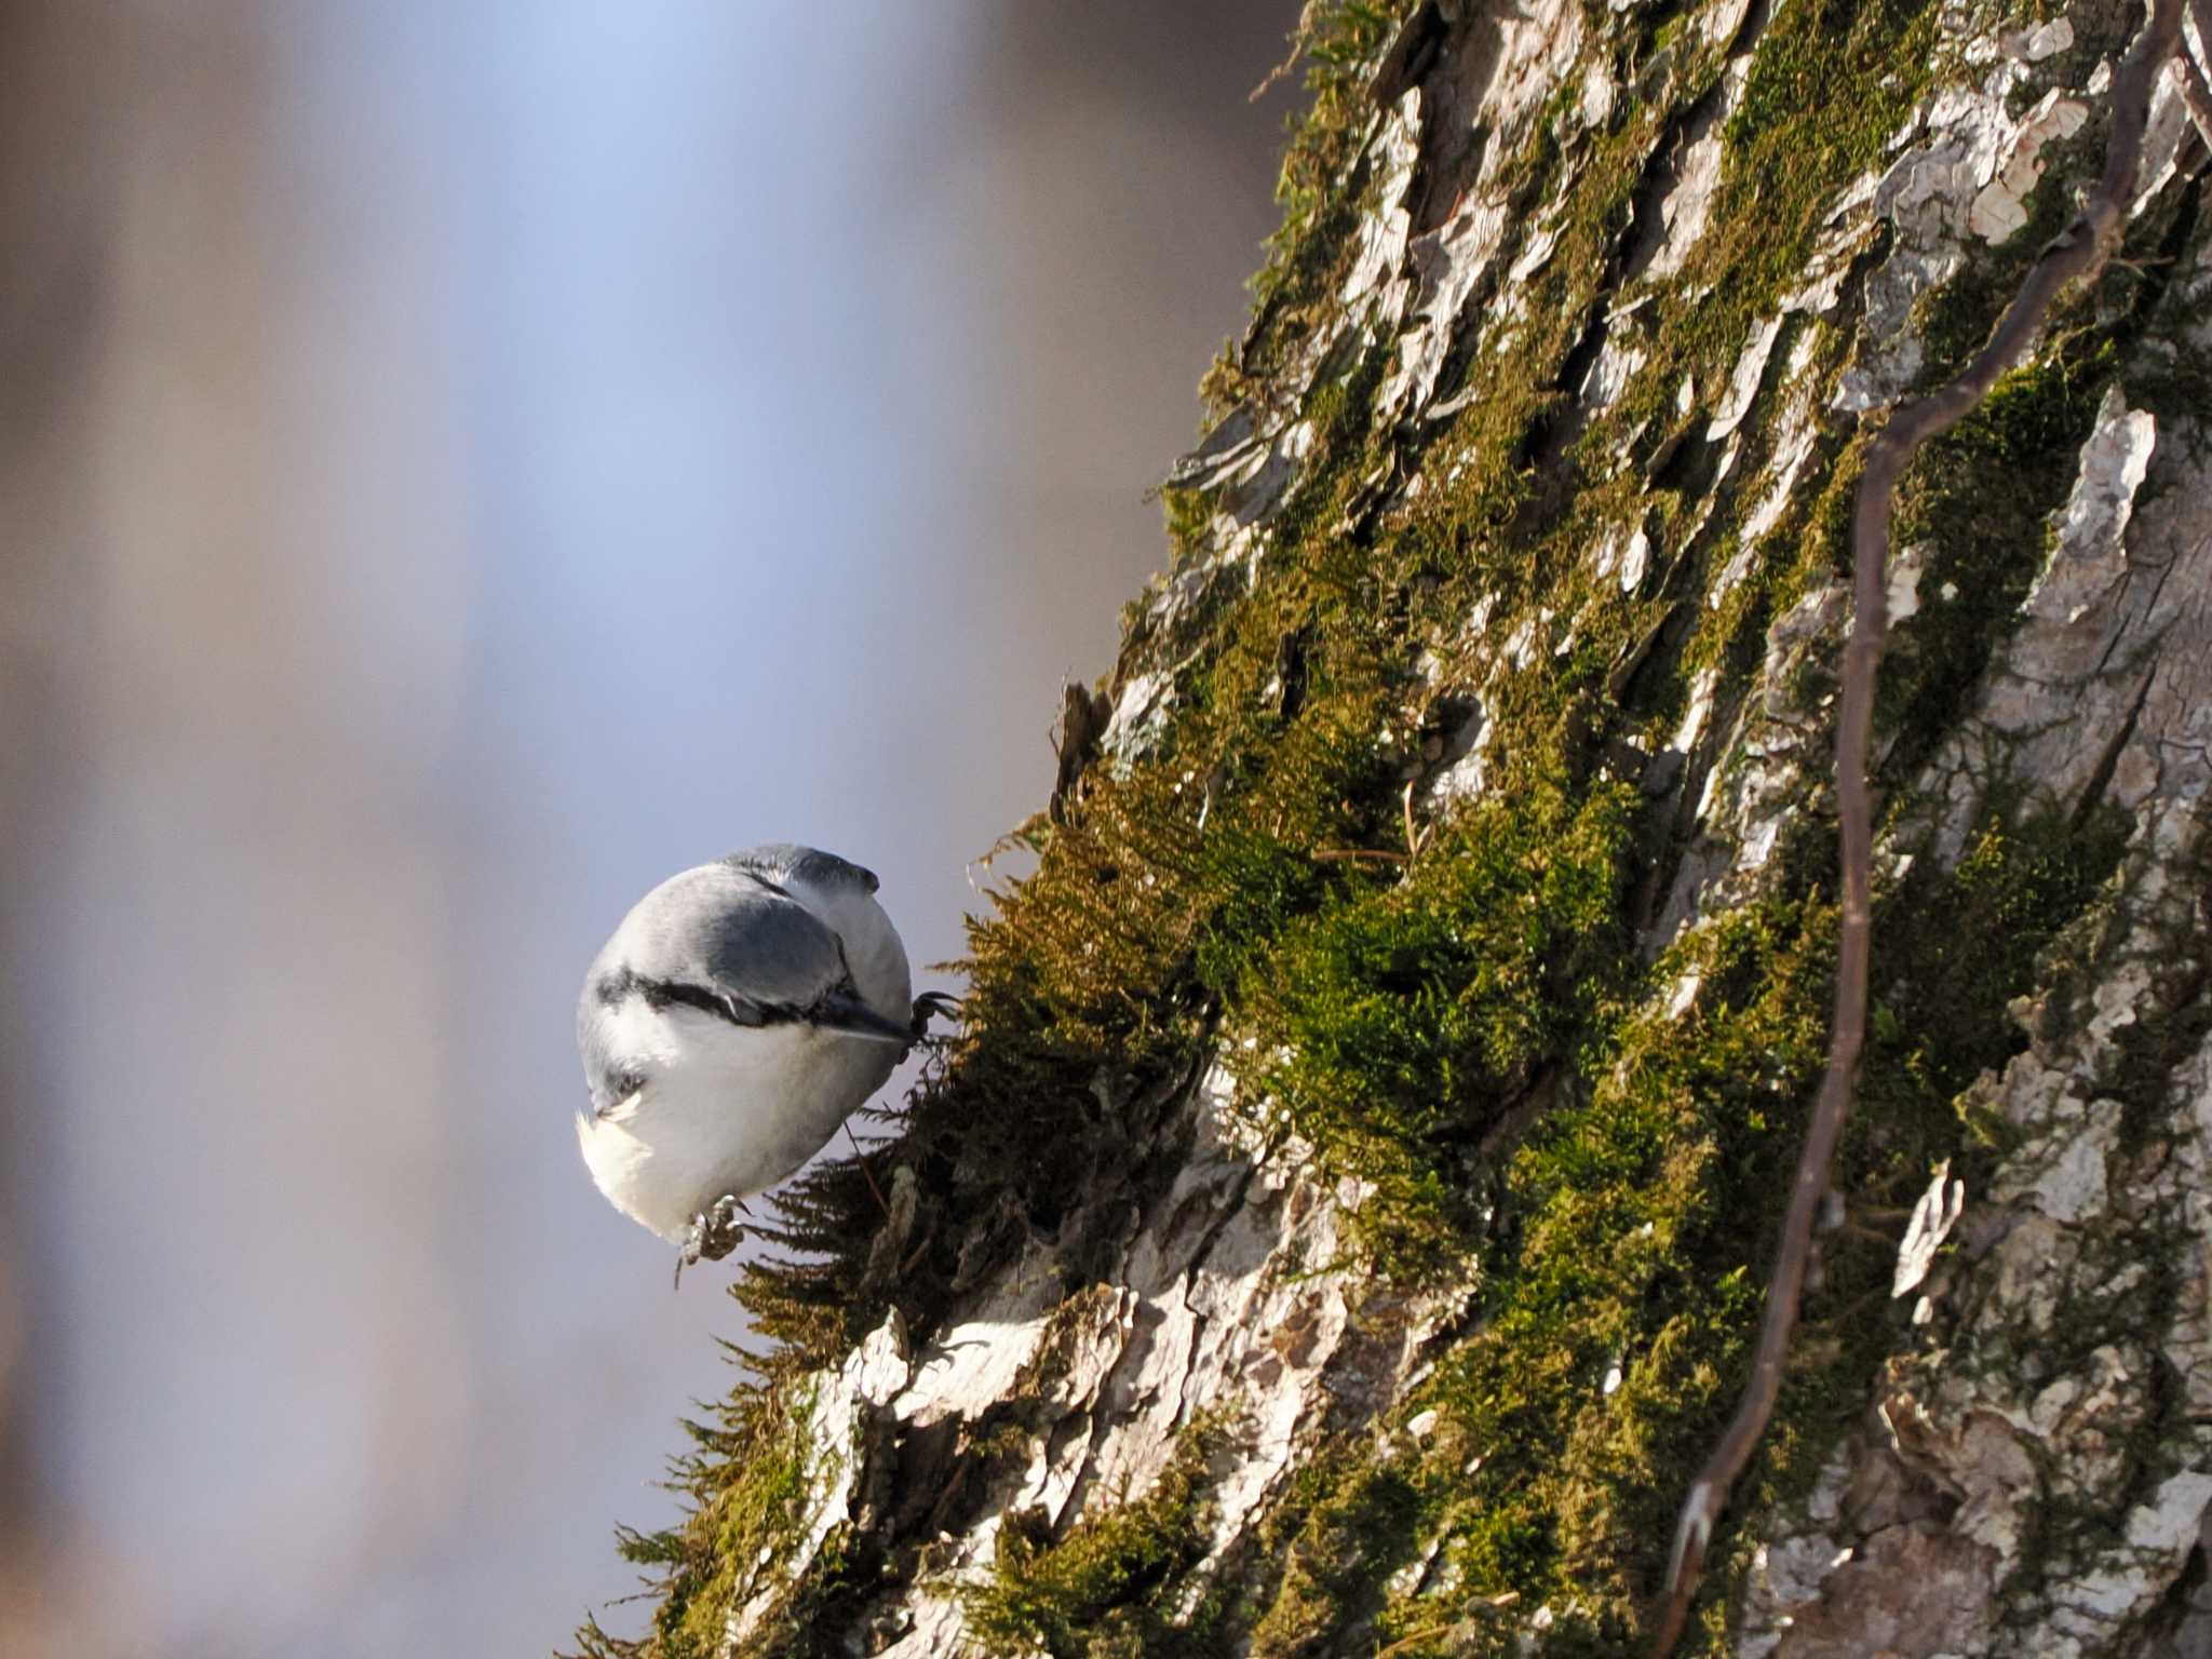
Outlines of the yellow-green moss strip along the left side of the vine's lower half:
{"label": "yellow-green moss strip along the left side of the vine's lower half", "polygon": [[1820,1062],[1825,931],[1820,909],[1763,905],[1661,962],[1703,978],[1697,1004],[1630,1015],[1590,1055],[1588,1099],[1513,1159],[1484,1329],[1422,1396],[1442,1416],[1425,1486],[1460,1597],[1551,1606],[1571,1652],[1632,1635],[1732,1391]]}

